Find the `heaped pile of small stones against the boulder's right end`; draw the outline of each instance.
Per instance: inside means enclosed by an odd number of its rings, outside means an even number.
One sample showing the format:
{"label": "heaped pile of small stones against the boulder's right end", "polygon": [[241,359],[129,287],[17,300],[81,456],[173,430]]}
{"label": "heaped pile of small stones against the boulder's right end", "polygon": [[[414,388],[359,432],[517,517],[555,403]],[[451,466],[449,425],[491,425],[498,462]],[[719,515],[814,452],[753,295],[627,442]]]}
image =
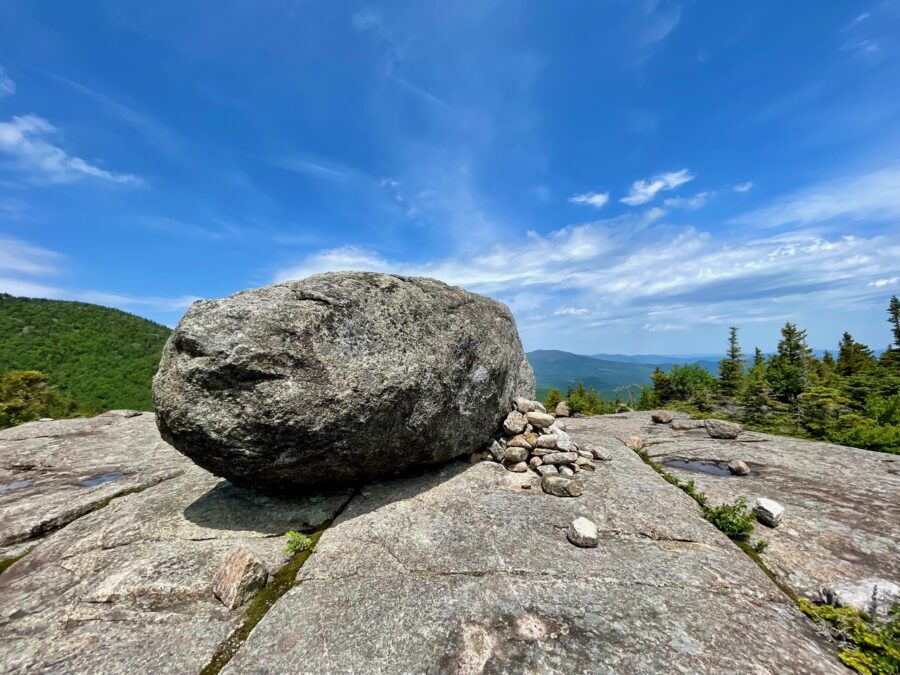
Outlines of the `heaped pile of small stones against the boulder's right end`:
{"label": "heaped pile of small stones against the boulder's right end", "polygon": [[472,455],[473,462],[493,461],[509,471],[533,471],[541,476],[544,492],[577,497],[584,489],[579,474],[594,471],[594,460],[609,459],[603,448],[580,448],[538,401],[518,397],[515,409],[503,420],[497,438]]}

